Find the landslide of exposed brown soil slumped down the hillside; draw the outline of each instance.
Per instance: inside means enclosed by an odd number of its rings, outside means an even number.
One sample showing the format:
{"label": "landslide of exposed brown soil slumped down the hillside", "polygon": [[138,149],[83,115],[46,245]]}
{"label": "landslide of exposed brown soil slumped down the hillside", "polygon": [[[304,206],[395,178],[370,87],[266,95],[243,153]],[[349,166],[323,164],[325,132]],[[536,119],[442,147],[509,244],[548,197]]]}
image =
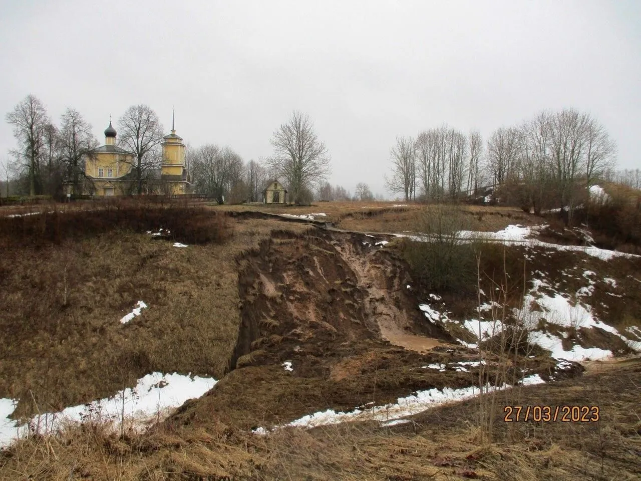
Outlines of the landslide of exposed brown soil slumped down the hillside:
{"label": "landslide of exposed brown soil slumped down the hillside", "polygon": [[[478,354],[427,321],[406,289],[412,280],[403,261],[376,241],[324,230],[278,232],[240,260],[242,325],[228,374],[167,426],[270,426],[478,381],[474,367],[426,368]],[[529,371],[549,377],[553,365],[531,360]]]}

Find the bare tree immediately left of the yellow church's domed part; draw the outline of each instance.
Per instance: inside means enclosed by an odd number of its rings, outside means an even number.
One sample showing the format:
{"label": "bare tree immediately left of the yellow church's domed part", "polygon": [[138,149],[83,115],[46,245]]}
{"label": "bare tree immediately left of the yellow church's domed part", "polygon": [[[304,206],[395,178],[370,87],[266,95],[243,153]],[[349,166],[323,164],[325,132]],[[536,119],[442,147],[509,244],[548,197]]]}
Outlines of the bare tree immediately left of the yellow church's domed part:
{"label": "bare tree immediately left of the yellow church's domed part", "polygon": [[62,115],[60,128],[60,155],[67,180],[71,181],[74,194],[81,194],[81,178],[85,176],[85,157],[97,147],[91,125],[73,108]]}

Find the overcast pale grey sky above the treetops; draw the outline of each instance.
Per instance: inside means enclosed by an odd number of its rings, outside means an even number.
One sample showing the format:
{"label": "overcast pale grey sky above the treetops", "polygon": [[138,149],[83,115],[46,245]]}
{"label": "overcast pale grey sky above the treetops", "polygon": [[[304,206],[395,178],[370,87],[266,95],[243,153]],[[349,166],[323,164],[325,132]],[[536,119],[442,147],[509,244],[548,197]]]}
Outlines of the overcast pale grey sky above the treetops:
{"label": "overcast pale grey sky above the treetops", "polygon": [[[292,110],[332,183],[385,192],[397,135],[447,122],[483,138],[543,108],[594,114],[641,167],[641,1],[1,0],[0,112],[27,94],[99,140],[145,103],[193,146],[246,160]],[[0,124],[0,155],[14,146]]]}

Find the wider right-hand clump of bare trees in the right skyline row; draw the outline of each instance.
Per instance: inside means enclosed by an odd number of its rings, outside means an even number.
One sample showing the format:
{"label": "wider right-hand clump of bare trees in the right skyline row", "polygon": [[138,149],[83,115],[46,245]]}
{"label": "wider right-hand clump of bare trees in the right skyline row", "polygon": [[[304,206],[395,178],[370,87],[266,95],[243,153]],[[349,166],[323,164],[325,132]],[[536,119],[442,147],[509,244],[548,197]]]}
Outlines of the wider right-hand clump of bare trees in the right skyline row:
{"label": "wider right-hand clump of bare trees in the right skyline row", "polygon": [[[490,150],[490,144],[497,147]],[[524,210],[560,207],[571,222],[574,209],[589,198],[590,185],[612,169],[616,153],[615,142],[592,115],[544,111],[510,129],[503,144],[493,134],[488,166],[495,183]]]}

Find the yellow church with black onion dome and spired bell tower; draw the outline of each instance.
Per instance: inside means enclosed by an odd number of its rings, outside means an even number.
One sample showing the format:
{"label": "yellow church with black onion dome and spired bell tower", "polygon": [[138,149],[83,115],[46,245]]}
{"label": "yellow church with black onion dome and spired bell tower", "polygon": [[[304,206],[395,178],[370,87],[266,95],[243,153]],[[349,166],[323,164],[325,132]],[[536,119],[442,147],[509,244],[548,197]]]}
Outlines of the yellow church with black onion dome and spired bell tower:
{"label": "yellow church with black onion dome and spired bell tower", "polygon": [[[85,160],[87,182],[83,193],[92,196],[126,196],[136,192],[136,178],[133,169],[135,155],[116,145],[117,132],[109,122],[104,131],[104,145],[94,149]],[[171,119],[171,133],[163,137],[160,169],[145,173],[145,191],[149,194],[188,194],[190,175],[185,163],[185,144],[176,135],[174,115]],[[70,192],[68,190],[68,192]]]}

